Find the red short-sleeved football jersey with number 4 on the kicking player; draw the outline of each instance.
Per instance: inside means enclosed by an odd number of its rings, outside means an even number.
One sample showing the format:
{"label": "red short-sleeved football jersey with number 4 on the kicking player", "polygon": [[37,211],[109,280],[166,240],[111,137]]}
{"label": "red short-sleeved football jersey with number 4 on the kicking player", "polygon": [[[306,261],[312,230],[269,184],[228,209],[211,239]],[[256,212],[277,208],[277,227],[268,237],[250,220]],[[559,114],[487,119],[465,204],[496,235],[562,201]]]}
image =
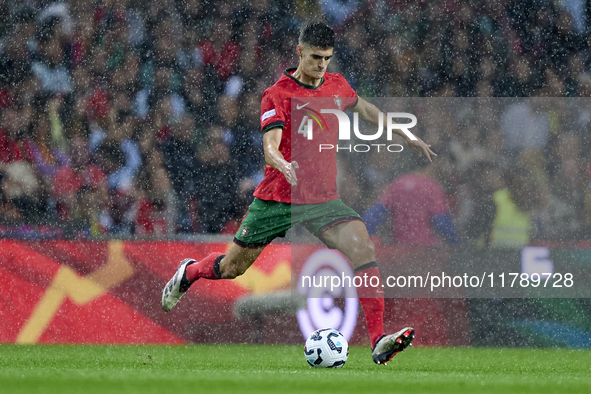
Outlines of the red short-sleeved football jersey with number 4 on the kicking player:
{"label": "red short-sleeved football jersey with number 4 on the kicking player", "polygon": [[[325,73],[320,85],[311,86],[293,78],[295,70],[285,70],[263,93],[261,131],[283,128],[279,151],[288,162],[298,163],[298,184],[292,188],[282,173],[267,164],[265,178],[255,189],[254,196],[294,204],[334,200],[339,197],[336,149],[321,151],[320,145],[337,146],[339,125],[334,114],[321,113],[321,110],[345,111],[357,104],[357,93],[340,74]],[[312,139],[301,130],[298,133],[302,121],[307,124],[306,119],[313,119]]]}

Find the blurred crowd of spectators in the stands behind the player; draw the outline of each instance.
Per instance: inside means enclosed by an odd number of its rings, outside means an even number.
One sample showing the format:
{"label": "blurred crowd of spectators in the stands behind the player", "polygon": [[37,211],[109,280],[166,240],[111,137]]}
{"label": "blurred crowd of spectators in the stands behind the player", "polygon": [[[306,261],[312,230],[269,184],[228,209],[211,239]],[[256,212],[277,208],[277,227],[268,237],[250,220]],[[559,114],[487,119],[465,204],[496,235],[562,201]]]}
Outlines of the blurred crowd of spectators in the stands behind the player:
{"label": "blurred crowd of spectators in the stands behind the player", "polygon": [[[310,19],[360,96],[589,97],[586,3],[0,1],[0,235],[232,234],[264,170],[261,94]],[[591,115],[530,115],[528,138],[500,118],[421,130],[463,242],[488,244],[503,203],[525,243],[591,235]],[[405,153],[343,155],[345,202],[372,206]]]}

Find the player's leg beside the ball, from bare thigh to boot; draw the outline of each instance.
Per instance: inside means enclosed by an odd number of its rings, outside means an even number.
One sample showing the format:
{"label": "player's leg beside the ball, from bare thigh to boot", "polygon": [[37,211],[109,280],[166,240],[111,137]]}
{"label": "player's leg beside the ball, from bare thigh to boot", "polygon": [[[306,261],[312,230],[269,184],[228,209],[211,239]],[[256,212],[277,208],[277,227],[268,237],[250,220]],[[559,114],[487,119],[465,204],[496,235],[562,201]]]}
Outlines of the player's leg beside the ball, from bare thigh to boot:
{"label": "player's leg beside the ball, from bare thigh to boot", "polygon": [[[376,364],[386,364],[411,344],[414,330],[406,327],[395,334],[384,333],[384,290],[376,263],[375,247],[367,228],[362,221],[352,220],[325,230],[322,236],[328,246],[339,250],[351,260],[355,276],[361,277],[362,283],[367,284],[357,288],[357,295],[365,315],[373,360]],[[369,285],[369,279],[364,280],[372,277],[378,278],[375,287]]]}

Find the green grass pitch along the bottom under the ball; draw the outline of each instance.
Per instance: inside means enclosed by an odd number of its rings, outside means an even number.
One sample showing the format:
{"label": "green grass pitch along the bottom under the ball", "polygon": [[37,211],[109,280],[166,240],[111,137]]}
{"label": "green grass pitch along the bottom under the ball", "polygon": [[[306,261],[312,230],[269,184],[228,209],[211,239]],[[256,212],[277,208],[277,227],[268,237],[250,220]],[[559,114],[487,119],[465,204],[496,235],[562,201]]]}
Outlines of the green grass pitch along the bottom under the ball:
{"label": "green grass pitch along the bottom under the ball", "polygon": [[591,393],[591,351],[411,348],[388,366],[352,348],[312,369],[302,346],[0,345],[0,393]]}

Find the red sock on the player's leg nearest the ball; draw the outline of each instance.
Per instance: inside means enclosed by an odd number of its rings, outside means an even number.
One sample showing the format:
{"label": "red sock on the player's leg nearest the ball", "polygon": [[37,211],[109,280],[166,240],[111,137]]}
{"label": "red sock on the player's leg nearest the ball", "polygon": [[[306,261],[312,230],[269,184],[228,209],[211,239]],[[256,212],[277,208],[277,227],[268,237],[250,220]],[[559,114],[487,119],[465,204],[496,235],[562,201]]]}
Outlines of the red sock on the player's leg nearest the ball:
{"label": "red sock on the player's leg nearest the ball", "polygon": [[[362,286],[357,287],[357,296],[361,308],[363,308],[369,340],[373,349],[377,340],[384,335],[384,288],[380,278],[380,270],[376,262],[373,261],[355,269],[355,276],[363,280]],[[372,277],[377,277],[378,281],[372,280]],[[376,287],[372,287],[376,284]]]}

